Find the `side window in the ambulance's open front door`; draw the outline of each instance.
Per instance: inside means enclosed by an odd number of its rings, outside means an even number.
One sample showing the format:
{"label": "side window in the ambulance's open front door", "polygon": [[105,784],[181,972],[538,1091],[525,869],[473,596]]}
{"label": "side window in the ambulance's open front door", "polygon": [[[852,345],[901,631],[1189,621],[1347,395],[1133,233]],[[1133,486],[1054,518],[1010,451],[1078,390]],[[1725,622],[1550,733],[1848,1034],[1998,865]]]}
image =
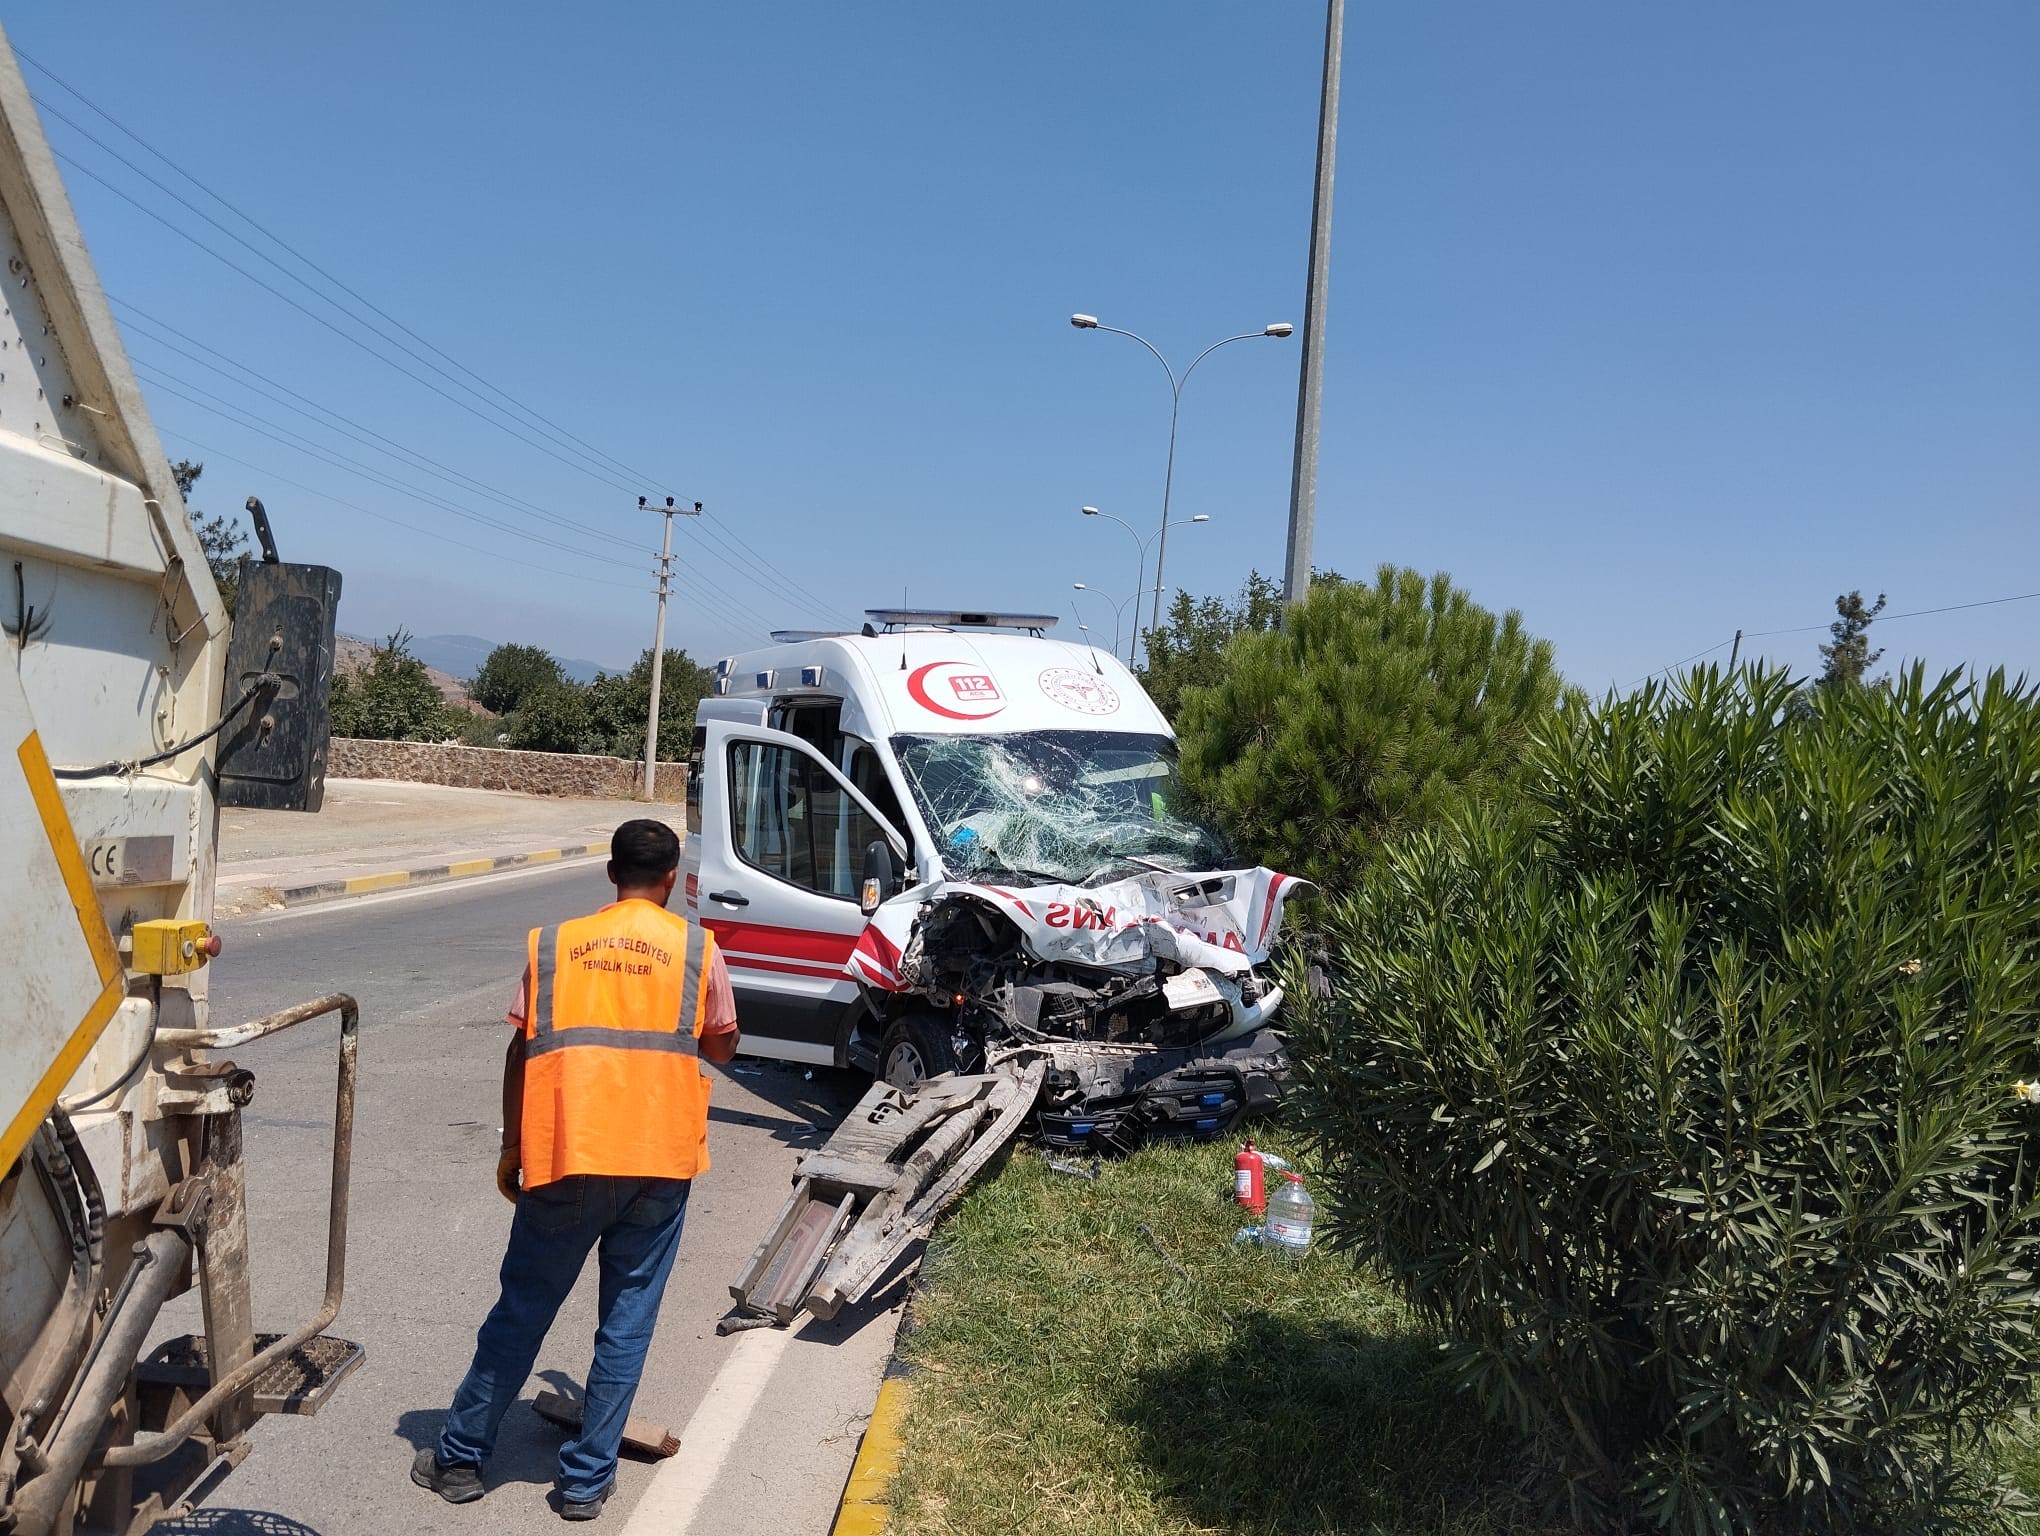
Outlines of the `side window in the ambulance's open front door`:
{"label": "side window in the ambulance's open front door", "polygon": [[773,879],[857,900],[877,822],[806,753],[730,743],[730,838],[736,855]]}

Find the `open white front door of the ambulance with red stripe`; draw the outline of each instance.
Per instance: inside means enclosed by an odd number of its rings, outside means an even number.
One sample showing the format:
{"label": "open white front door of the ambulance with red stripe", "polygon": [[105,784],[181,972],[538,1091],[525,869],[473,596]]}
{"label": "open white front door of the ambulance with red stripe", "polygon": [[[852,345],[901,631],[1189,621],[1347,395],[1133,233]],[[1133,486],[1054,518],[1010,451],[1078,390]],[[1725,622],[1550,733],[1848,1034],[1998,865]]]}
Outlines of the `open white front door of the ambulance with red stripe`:
{"label": "open white front door of the ambulance with red stripe", "polygon": [[716,936],[745,1055],[836,1065],[861,997],[845,975],[865,914],[865,849],[912,847],[800,736],[732,720],[698,724],[700,830],[687,916]]}

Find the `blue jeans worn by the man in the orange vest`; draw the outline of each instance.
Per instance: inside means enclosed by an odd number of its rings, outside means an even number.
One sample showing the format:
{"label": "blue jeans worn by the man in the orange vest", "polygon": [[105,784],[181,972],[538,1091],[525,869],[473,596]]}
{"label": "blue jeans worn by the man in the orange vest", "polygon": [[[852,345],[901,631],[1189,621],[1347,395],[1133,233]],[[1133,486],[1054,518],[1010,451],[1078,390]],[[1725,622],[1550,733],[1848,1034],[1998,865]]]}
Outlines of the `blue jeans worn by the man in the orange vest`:
{"label": "blue jeans worn by the man in the orange vest", "polygon": [[475,1363],[439,1434],[441,1467],[479,1467],[530,1377],[559,1303],[602,1244],[596,1361],[581,1428],[559,1448],[561,1497],[585,1501],[616,1477],[616,1448],[636,1397],[665,1277],[687,1218],[687,1179],[571,1175],[518,1195],[504,1252],[502,1295],[475,1336]]}

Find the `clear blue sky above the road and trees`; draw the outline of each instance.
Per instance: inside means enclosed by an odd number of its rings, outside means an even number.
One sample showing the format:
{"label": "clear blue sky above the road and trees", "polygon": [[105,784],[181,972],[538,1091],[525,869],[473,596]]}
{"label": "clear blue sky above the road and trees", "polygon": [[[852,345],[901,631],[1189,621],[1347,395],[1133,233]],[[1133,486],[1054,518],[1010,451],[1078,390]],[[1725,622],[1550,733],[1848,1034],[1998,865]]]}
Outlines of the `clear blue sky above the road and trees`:
{"label": "clear blue sky above the road and trees", "polygon": [[[263,496],[290,559],[345,571],[355,632],[626,663],[651,641],[659,532],[639,490],[706,502],[751,551],[681,528],[671,638],[704,657],[902,590],[1069,622],[1071,581],[1134,585],[1132,541],[1077,508],[1153,526],[1169,396],[1138,347],[1067,316],[1179,363],[1304,318],[1316,4],[29,0],[6,24],[416,337],[612,457],[594,473],[532,447],[537,430],[490,426],[67,169],[165,443],[206,463],[198,506]],[[1520,608],[1595,692],[1738,626],[1820,626],[1848,587],[1889,592],[1891,612],[2040,592],[2036,59],[2030,0],[1357,0],[1320,565],[1448,569]],[[218,361],[163,326],[375,447],[177,355]],[[1297,341],[1251,341],[1185,390],[1175,514],[1212,522],[1171,539],[1171,587],[1281,569],[1295,369]],[[1110,630],[1104,608],[1087,618]],[[1746,649],[1812,667],[1820,638]],[[2040,673],[2040,602],[1879,638],[1887,661]]]}

